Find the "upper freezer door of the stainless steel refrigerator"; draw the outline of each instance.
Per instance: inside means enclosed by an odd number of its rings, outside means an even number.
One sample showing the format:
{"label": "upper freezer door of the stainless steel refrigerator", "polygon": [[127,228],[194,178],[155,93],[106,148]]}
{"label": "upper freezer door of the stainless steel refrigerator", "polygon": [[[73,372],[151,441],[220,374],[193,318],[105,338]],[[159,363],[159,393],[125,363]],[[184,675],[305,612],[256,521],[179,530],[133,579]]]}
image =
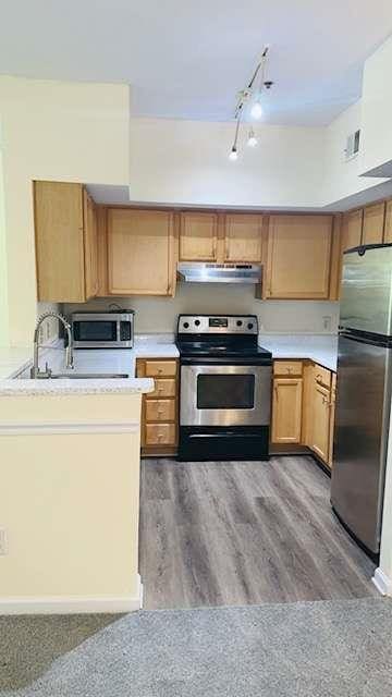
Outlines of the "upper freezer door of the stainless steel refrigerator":
{"label": "upper freezer door of the stainless steel refrigerator", "polygon": [[392,334],[392,245],[346,252],[343,260],[340,326]]}

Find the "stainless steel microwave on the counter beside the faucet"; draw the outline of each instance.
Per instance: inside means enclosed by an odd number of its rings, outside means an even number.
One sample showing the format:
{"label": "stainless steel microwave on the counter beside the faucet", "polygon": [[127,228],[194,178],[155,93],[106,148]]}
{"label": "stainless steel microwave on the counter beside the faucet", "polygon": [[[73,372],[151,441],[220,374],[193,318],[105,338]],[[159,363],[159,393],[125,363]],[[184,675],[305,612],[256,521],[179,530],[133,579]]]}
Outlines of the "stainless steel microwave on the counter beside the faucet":
{"label": "stainless steel microwave on the counter beside the faucet", "polygon": [[132,348],[134,311],[74,313],[71,319],[75,348]]}

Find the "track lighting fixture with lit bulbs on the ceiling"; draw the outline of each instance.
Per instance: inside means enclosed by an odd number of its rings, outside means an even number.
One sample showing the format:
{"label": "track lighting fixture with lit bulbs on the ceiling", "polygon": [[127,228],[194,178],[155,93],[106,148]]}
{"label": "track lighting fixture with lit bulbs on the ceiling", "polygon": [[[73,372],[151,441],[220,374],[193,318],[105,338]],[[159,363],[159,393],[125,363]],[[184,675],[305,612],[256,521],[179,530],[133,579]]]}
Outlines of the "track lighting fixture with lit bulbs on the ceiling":
{"label": "track lighting fixture with lit bulbs on the ceiling", "polygon": [[[248,115],[252,119],[261,119],[262,117],[262,102],[261,102],[261,93],[262,89],[270,89],[273,85],[272,81],[266,81],[266,64],[267,64],[267,53],[269,47],[266,46],[262,50],[261,58],[256,66],[256,70],[252,76],[249,84],[238,93],[237,103],[235,107],[234,118],[236,121],[235,124],[235,135],[234,143],[232,149],[230,151],[229,158],[231,160],[236,160],[238,157],[238,132],[240,125],[243,120],[243,117]],[[246,109],[245,109],[246,108]],[[253,127],[250,127],[247,145],[250,147],[255,147],[257,145],[257,138]]]}

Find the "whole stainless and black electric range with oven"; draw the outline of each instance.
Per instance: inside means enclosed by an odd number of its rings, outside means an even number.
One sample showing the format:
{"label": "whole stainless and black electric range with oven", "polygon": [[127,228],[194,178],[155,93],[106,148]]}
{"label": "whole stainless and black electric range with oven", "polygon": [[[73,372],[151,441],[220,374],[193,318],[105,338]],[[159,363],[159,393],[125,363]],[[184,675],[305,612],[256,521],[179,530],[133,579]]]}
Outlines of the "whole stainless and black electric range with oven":
{"label": "whole stainless and black electric range with oven", "polygon": [[267,460],[272,356],[255,315],[180,315],[179,460]]}

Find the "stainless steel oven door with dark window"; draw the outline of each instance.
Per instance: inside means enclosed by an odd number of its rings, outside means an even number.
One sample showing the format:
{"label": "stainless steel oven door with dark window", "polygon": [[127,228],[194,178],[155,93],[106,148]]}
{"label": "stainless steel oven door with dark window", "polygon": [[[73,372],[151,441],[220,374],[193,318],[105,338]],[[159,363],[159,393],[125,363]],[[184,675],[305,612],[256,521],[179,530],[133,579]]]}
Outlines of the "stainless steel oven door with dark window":
{"label": "stainless steel oven door with dark window", "polygon": [[270,408],[271,366],[181,366],[181,426],[264,426]]}

